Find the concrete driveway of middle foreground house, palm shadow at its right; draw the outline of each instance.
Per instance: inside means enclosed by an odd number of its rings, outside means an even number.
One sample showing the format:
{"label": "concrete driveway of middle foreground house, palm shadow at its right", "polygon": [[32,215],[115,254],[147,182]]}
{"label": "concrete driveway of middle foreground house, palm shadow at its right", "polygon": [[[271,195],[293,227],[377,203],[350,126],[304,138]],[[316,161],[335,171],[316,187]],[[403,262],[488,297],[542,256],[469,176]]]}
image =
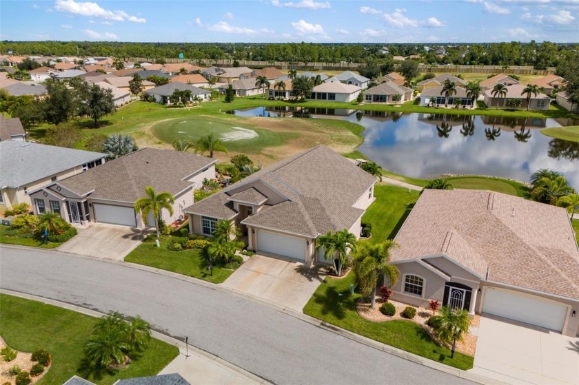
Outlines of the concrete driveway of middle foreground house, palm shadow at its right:
{"label": "concrete driveway of middle foreground house, palm shadow at its right", "polygon": [[301,312],[324,278],[323,269],[255,255],[221,285]]}

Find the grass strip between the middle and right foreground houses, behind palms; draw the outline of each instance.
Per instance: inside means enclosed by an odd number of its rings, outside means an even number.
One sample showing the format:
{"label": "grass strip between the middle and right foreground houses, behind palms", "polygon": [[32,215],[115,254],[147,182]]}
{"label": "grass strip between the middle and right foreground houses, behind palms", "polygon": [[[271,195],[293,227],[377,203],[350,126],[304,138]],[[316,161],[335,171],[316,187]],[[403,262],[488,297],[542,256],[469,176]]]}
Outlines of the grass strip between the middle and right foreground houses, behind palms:
{"label": "grass strip between the middle and right foreground houses, behind palms", "polygon": [[374,196],[376,200],[366,210],[362,222],[372,224],[372,238],[368,242],[379,243],[396,236],[418,200],[418,191],[392,185],[376,185]]}

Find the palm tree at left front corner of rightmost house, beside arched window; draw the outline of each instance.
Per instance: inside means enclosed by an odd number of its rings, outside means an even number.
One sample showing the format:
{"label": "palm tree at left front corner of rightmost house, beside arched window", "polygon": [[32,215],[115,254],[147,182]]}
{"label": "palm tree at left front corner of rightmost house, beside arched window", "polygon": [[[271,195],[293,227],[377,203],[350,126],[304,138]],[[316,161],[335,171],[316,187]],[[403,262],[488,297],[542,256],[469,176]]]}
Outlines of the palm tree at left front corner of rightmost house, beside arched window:
{"label": "palm tree at left front corner of rightmost house, beside arched window", "polygon": [[376,307],[376,285],[378,278],[383,276],[383,285],[392,287],[400,277],[400,271],[389,264],[390,249],[398,247],[394,240],[386,240],[380,244],[363,243],[358,246],[354,255],[354,274],[356,284],[365,298],[370,298],[370,307]]}

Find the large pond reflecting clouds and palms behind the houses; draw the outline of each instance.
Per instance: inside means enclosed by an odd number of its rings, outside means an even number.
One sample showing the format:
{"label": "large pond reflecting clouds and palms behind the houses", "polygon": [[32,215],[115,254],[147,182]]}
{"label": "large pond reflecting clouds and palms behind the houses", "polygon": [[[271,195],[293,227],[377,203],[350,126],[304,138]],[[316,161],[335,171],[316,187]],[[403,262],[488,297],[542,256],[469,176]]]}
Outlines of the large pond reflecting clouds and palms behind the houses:
{"label": "large pond reflecting clouds and palms behind the houses", "polygon": [[[301,107],[256,107],[240,116],[292,116]],[[528,182],[537,169],[556,169],[579,187],[579,143],[549,138],[545,127],[568,119],[510,118],[309,109],[313,118],[338,118],[365,127],[358,150],[384,169],[414,178],[440,174],[499,176]]]}

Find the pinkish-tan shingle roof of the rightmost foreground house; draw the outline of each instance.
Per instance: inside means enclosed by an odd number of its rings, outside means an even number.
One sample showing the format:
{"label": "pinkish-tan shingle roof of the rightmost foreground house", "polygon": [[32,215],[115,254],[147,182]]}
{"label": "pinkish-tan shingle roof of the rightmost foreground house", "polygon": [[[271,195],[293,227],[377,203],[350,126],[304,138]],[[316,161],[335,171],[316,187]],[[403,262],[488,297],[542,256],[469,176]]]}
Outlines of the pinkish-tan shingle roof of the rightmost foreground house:
{"label": "pinkish-tan shingle roof of the rightmost foreground house", "polygon": [[392,262],[445,254],[488,280],[579,299],[567,211],[492,191],[427,189],[396,236]]}

